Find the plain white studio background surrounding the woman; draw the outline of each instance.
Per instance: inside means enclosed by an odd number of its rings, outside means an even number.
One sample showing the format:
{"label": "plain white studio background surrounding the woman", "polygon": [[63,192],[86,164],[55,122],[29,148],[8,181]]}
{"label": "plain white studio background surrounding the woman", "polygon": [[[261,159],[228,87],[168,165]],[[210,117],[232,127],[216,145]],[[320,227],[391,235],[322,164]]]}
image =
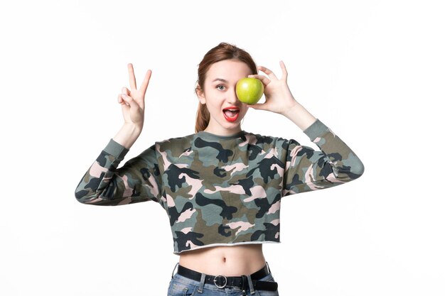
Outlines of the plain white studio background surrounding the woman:
{"label": "plain white studio background surrounding the woman", "polygon": [[[201,58],[244,48],[353,148],[365,174],[285,197],[264,245],[280,295],[444,295],[442,1],[2,1],[1,295],[166,295],[178,261],[153,202],[92,207],[74,190],[122,124],[117,94],[153,70],[144,131],[193,133]],[[296,138],[250,110],[246,131]]]}

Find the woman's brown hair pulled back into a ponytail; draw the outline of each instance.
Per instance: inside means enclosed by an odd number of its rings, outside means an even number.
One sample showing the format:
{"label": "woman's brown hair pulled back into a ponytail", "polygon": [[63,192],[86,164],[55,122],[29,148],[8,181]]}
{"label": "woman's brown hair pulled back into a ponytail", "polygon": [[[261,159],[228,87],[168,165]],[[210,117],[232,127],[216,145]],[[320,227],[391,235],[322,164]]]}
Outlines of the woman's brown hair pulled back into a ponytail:
{"label": "woman's brown hair pulled back into a ponytail", "polygon": [[[252,74],[258,74],[257,65],[247,51],[238,48],[230,43],[220,43],[211,50],[209,50],[203,57],[203,60],[198,65],[198,81],[196,82],[195,93],[198,91],[204,91],[204,81],[205,75],[207,74],[210,66],[215,62],[220,62],[222,60],[240,60],[245,62]],[[210,121],[210,113],[205,104],[198,103],[198,111],[196,112],[196,124],[195,132],[204,131],[207,128]]]}

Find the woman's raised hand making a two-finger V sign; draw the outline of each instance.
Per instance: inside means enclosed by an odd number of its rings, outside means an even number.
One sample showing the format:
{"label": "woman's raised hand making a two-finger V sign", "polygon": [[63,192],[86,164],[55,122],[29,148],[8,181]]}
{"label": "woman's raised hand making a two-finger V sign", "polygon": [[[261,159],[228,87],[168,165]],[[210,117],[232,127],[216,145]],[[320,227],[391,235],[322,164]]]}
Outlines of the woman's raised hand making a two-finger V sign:
{"label": "woman's raised hand making a two-finger V sign", "polygon": [[133,65],[128,64],[130,89],[122,88],[122,94],[117,96],[117,102],[122,105],[124,123],[142,129],[144,126],[145,93],[149,86],[151,70],[146,72],[144,81],[139,89],[136,88],[136,77],[134,77]]}

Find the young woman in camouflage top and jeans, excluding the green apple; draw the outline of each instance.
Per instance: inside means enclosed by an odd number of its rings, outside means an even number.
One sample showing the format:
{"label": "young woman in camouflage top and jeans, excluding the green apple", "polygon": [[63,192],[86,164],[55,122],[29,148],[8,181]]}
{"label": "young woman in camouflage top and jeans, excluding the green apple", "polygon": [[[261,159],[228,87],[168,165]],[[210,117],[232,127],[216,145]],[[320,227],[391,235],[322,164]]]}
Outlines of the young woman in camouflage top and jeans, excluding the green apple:
{"label": "young woman in camouflage top and jeans, excluding the green apple", "polygon": [[[124,125],[82,177],[75,196],[96,205],[152,200],[166,209],[179,255],[168,295],[278,295],[262,243],[279,242],[281,198],[363,174],[355,153],[296,102],[280,65],[278,79],[235,45],[212,48],[198,67],[195,133],[156,142],[118,168],[144,125],[151,77],[149,70],[137,89],[129,64],[131,88],[118,96]],[[235,85],[243,77],[262,81],[264,104],[237,99]],[[249,108],[286,116],[320,150],[243,131]]]}

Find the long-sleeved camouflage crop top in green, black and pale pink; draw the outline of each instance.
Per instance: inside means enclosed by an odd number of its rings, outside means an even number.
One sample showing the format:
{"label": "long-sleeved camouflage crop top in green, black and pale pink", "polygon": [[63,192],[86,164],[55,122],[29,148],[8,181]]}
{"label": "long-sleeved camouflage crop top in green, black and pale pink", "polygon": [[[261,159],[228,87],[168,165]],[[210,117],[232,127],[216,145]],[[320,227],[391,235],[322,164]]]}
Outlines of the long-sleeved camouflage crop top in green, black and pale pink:
{"label": "long-sleeved camouflage crop top in green, black and pale pink", "polygon": [[200,131],[156,142],[119,163],[127,148],[110,140],[80,180],[84,204],[152,200],[166,210],[174,253],[209,246],[279,242],[282,197],[354,180],[363,164],[321,121],[304,131],[321,151],[295,140],[241,131]]}

